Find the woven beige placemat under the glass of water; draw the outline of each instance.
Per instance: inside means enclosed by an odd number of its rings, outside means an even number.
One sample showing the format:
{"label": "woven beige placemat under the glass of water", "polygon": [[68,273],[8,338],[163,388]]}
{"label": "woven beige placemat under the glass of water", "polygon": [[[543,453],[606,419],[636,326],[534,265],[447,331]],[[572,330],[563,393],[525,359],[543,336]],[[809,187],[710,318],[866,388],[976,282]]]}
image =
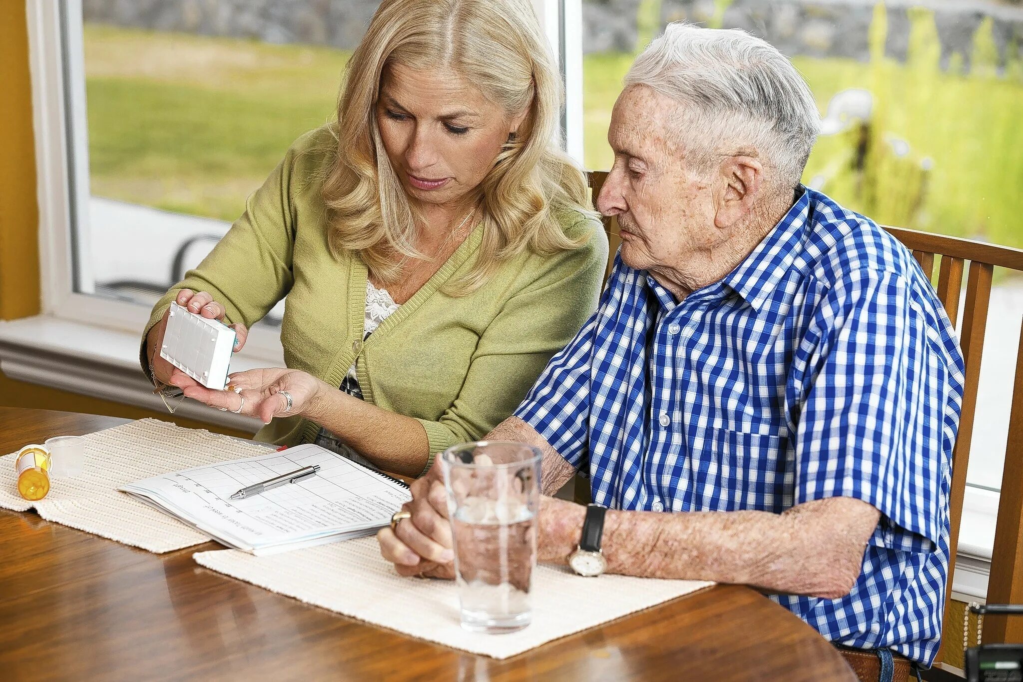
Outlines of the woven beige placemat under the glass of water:
{"label": "woven beige placemat under the glass of water", "polygon": [[[375,538],[253,556],[235,549],[196,552],[208,569],[373,625],[445,646],[506,658],[713,583],[605,575],[580,578],[537,566],[533,623],[516,633],[462,630],[453,582],[401,578]],[[339,644],[339,646],[342,644]]]}

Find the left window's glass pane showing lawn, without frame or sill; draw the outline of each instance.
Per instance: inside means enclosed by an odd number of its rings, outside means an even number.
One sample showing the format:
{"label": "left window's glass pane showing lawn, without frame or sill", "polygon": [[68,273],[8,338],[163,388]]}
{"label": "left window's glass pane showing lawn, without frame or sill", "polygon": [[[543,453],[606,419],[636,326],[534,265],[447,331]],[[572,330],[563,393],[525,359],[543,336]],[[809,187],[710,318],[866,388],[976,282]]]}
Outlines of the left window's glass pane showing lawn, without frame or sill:
{"label": "left window's glass pane showing lawn, without frame or sill", "polygon": [[70,5],[88,141],[74,145],[88,157],[76,290],[151,306],[196,265],[291,143],[331,118],[379,4]]}

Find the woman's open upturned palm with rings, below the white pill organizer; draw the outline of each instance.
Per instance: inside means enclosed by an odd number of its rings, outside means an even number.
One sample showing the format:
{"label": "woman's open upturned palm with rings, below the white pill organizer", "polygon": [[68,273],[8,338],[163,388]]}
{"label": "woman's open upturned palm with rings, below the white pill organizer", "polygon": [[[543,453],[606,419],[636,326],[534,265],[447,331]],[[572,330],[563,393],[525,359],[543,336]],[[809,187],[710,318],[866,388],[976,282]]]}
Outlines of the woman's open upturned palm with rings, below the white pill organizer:
{"label": "woman's open upturned palm with rings, below the white pill organizer", "polygon": [[[214,391],[175,368],[170,383],[184,390],[188,398],[221,410],[257,416],[266,424],[274,417],[302,415],[321,400],[325,391],[337,391],[298,369],[250,369],[227,378],[226,390]],[[292,397],[291,409],[284,393]]]}

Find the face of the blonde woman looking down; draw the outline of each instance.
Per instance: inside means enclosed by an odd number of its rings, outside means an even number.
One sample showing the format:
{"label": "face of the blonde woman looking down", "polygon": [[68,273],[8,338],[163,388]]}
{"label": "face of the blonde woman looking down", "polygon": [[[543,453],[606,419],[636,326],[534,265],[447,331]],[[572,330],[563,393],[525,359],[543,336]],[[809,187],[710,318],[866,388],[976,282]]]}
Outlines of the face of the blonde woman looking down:
{"label": "face of the blonde woman looking down", "polygon": [[381,80],[376,125],[413,203],[464,199],[524,118],[509,119],[450,70],[395,65]]}

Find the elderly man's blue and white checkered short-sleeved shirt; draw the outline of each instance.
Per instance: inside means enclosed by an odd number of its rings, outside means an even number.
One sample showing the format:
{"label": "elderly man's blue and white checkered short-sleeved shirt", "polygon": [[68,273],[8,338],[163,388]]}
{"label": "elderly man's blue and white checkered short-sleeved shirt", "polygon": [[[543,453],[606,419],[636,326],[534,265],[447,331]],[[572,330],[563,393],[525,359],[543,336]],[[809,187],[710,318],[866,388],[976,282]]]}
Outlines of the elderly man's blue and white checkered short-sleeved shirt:
{"label": "elderly man's blue and white checkered short-sleeved shirt", "polygon": [[848,595],[772,598],[829,640],[930,665],[962,354],[910,254],[800,191],[739,267],[681,303],[619,256],[599,309],[516,415],[610,508],[877,507]]}

